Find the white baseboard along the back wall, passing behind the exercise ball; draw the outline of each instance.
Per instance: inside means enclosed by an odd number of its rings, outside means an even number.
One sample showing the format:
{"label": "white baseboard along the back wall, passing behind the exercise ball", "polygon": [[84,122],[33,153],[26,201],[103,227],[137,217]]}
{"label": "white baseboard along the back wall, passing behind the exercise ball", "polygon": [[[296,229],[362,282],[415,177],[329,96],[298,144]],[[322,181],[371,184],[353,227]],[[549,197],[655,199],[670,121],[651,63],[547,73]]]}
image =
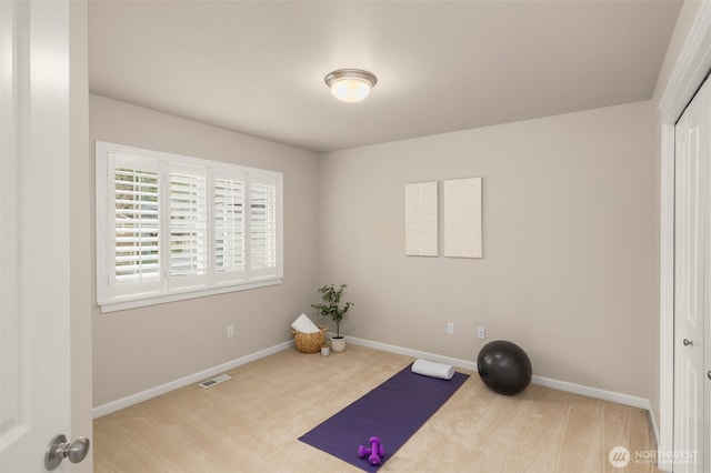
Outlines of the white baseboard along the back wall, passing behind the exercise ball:
{"label": "white baseboard along the back wall, passing behind the exercise ball", "polygon": [[[349,336],[348,341],[354,345],[368,346],[375,350],[382,350],[385,352],[399,353],[412,358],[425,359],[438,363],[447,363],[452,366],[463,368],[464,370],[478,371],[477,363],[473,361],[461,360],[458,358],[442,356],[434,353],[428,353],[419,350],[405,349],[397,345],[389,345],[387,343],[373,342],[364,339],[357,339]],[[565,391],[574,394],[585,395],[588,397],[600,399],[603,401],[617,402],[618,404],[629,405],[631,407],[643,409],[649,412],[649,416],[654,430],[655,441],[659,439],[659,430],[657,426],[657,420],[654,419],[654,411],[652,411],[652,404],[648,399],[638,397],[629,394],[618,393],[614,391],[601,390],[598,388],[585,386],[582,384],[569,383],[567,381],[553,380],[550,378],[533,375],[531,383],[540,386],[551,388],[559,391]]]}

